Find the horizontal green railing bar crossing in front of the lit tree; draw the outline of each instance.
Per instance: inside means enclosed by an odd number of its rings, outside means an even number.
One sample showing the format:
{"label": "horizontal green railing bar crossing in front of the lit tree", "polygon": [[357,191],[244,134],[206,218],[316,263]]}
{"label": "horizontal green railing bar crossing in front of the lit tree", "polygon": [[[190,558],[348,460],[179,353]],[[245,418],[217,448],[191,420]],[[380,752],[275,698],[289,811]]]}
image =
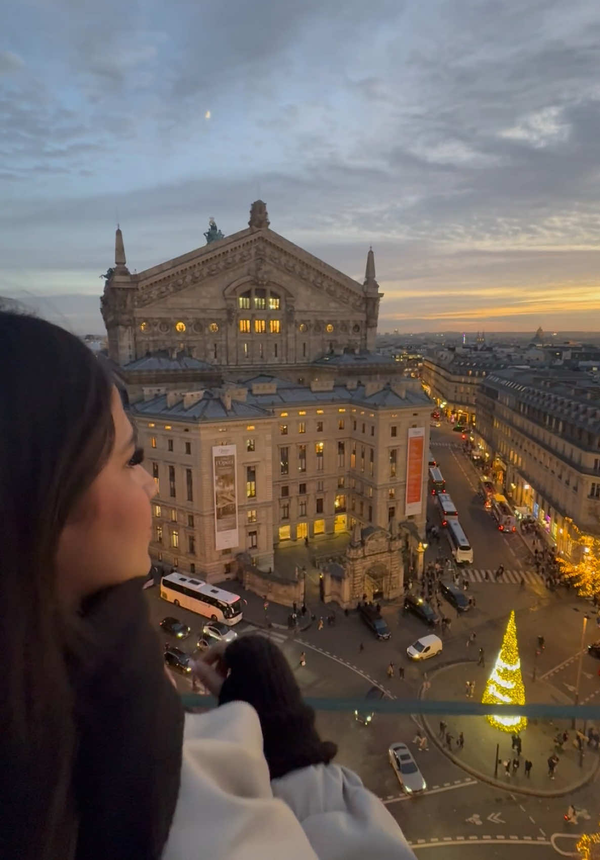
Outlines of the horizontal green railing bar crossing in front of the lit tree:
{"label": "horizontal green railing bar crossing in front of the lit tree", "polygon": [[[213,696],[199,696],[197,693],[183,693],[182,703],[186,708],[214,708],[217,704]],[[377,714],[440,714],[456,716],[486,716],[486,714],[505,713],[510,716],[529,718],[547,717],[549,719],[572,719],[600,721],[600,704],[550,704],[535,703],[524,705],[494,705],[479,702],[437,702],[430,699],[379,699],[368,702],[364,698],[312,698],[306,697],[306,704],[314,710],[349,711],[368,710]]]}

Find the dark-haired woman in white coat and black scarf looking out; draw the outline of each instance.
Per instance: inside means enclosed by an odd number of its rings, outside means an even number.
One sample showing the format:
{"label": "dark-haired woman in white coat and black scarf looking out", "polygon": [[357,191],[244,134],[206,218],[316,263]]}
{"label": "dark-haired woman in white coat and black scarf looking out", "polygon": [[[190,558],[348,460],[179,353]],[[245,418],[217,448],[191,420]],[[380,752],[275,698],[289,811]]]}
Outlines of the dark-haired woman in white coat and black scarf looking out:
{"label": "dark-haired woman in white coat and black scarf looking out", "polygon": [[220,707],[184,717],[142,592],[155,485],[107,370],[2,311],[0,368],[0,857],[412,857],[271,642],[209,650]]}

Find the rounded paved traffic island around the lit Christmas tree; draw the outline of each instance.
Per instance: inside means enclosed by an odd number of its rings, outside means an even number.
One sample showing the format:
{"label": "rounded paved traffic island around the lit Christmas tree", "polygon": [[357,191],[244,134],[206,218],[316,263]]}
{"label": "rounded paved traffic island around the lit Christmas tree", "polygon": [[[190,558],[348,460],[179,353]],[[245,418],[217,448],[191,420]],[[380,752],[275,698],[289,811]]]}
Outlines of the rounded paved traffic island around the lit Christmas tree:
{"label": "rounded paved traffic island around the lit Christmas tree", "polygon": [[[492,672],[492,665],[478,667],[476,660],[465,660],[440,667],[430,673],[430,689],[421,691],[421,697],[445,701],[464,700],[465,682],[475,682],[474,699],[481,700],[486,681]],[[567,697],[557,696],[553,687],[543,681],[525,680],[525,697],[527,703],[536,702],[568,702]],[[424,727],[431,740],[442,752],[452,759],[463,770],[503,789],[510,789],[516,794],[557,797],[568,795],[591,781],[600,765],[600,754],[593,747],[584,744],[584,757],[581,765],[578,749],[573,746],[575,732],[571,729],[570,721],[552,722],[549,720],[531,720],[521,734],[523,749],[520,756],[520,767],[516,773],[507,777],[502,764],[498,765],[498,776],[494,777],[496,762],[496,745],[499,744],[498,759],[510,761],[516,757],[516,751],[511,750],[510,732],[501,732],[493,728],[482,716],[441,716],[448,724],[447,731],[454,736],[452,752],[442,741],[438,720],[431,717],[422,718]],[[580,728],[580,727],[579,727]],[[587,727],[589,728],[589,727]],[[560,731],[569,733],[563,751],[558,750],[559,763],[556,765],[554,780],[548,777],[547,759],[555,752],[554,737]],[[456,739],[460,732],[464,733],[464,748],[458,749]],[[532,763],[531,776],[524,774],[524,762],[529,759]]]}

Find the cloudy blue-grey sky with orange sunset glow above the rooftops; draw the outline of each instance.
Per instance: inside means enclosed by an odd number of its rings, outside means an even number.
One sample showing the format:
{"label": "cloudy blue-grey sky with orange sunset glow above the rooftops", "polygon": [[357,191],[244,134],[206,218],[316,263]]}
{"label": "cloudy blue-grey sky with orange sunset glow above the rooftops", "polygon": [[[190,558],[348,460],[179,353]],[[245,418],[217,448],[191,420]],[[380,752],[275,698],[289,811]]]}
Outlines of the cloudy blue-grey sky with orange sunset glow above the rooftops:
{"label": "cloudy blue-grey sky with orange sunset glow above the rooftops", "polygon": [[117,219],[139,271],[258,197],[382,331],[600,329],[600,4],[3,5],[0,295],[102,331]]}

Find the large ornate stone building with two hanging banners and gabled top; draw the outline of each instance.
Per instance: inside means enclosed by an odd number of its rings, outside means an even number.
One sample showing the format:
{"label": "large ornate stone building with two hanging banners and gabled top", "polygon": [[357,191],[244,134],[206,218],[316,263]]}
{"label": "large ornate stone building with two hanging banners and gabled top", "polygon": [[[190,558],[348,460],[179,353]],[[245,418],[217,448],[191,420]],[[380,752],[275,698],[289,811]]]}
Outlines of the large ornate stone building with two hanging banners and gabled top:
{"label": "large ornate stone building with two hanging banners and gabled top", "polygon": [[118,229],[105,276],[109,355],[158,486],[152,556],[254,583],[278,548],[345,534],[332,598],[397,596],[423,559],[431,403],[374,352],[373,250],[360,284],[270,230],[260,200],[247,230],[205,237],[131,274]]}

